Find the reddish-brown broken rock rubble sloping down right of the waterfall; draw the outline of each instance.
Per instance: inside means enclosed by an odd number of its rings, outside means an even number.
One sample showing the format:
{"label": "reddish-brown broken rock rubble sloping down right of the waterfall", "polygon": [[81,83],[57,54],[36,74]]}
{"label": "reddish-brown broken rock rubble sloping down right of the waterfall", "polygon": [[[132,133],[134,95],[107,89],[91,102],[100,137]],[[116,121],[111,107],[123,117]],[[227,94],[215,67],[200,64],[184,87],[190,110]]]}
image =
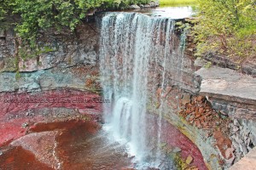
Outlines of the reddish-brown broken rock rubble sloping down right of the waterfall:
{"label": "reddish-brown broken rock rubble sloping down right of the waterfall", "polygon": [[183,116],[190,125],[206,130],[206,137],[215,139],[220,156],[226,164],[231,165],[236,156],[230,140],[230,118],[213,110],[206,97],[189,95],[188,98],[187,95],[184,94],[180,101],[180,116]]}

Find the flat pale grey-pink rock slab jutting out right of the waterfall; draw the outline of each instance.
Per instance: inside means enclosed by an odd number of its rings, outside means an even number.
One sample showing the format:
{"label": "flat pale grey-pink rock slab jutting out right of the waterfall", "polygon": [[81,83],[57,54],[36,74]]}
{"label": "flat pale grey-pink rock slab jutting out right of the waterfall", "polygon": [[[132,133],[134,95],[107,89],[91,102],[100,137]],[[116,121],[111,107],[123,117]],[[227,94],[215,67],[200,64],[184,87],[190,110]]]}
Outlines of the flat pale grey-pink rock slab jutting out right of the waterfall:
{"label": "flat pale grey-pink rock slab jutting out right of the waterfall", "polygon": [[195,74],[202,78],[202,95],[256,105],[256,78],[226,68],[201,68]]}

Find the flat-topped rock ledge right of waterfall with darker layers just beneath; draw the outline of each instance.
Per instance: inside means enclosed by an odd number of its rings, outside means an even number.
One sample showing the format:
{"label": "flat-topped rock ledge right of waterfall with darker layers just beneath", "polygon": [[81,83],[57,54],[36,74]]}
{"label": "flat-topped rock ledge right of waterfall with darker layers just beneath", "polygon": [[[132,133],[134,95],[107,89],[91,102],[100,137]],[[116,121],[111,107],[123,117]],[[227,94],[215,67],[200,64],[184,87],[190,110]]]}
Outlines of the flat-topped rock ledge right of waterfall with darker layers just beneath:
{"label": "flat-topped rock ledge right of waterfall with darker layers just beneath", "polygon": [[207,96],[213,109],[229,116],[256,114],[256,79],[226,68],[201,68],[200,94]]}

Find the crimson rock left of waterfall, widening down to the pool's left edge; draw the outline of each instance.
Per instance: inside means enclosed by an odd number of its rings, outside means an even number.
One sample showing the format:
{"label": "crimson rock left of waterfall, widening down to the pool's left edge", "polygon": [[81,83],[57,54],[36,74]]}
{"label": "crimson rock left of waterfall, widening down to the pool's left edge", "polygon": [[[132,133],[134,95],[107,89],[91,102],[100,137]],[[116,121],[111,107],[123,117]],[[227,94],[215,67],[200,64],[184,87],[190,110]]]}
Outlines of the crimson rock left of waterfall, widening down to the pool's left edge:
{"label": "crimson rock left of waterfall, widening down to the pool's left edge", "polygon": [[46,118],[39,109],[69,108],[81,110],[85,115],[101,114],[100,99],[97,94],[76,90],[0,94],[0,146],[25,135],[26,126],[32,126],[35,122],[43,122]]}

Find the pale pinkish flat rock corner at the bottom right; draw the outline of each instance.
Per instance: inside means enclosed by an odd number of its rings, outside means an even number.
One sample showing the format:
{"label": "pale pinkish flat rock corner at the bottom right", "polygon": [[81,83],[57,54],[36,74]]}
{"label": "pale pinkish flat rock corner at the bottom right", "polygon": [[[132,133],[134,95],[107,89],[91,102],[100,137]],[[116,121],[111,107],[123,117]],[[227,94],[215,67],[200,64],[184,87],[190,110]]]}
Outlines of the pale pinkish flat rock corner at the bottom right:
{"label": "pale pinkish flat rock corner at the bottom right", "polygon": [[253,148],[245,157],[237,161],[230,170],[253,170],[256,169],[256,147]]}

